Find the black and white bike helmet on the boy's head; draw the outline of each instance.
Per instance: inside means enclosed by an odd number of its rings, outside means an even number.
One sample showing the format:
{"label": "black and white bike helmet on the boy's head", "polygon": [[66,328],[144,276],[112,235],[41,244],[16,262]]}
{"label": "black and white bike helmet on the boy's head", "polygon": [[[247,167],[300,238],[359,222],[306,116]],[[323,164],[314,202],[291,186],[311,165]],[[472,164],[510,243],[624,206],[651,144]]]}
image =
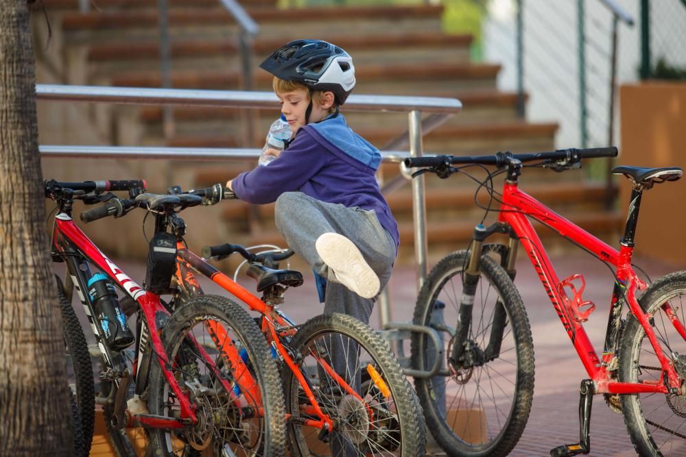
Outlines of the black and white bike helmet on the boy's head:
{"label": "black and white bike helmet on the boy's head", "polygon": [[260,68],[312,90],[330,90],[338,105],[345,103],[355,87],[353,58],[340,47],[322,40],[289,42],[276,49]]}

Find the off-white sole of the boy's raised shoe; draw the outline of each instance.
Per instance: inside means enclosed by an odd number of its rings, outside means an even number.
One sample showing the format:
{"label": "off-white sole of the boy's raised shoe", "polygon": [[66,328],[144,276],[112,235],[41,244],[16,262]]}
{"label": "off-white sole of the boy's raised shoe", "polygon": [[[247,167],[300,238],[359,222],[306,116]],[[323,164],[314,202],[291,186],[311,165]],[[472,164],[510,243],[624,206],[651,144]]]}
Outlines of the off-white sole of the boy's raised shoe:
{"label": "off-white sole of the boy's raised shoe", "polygon": [[377,273],[351,240],[337,233],[325,233],[317,238],[315,248],[338,282],[363,298],[379,293]]}

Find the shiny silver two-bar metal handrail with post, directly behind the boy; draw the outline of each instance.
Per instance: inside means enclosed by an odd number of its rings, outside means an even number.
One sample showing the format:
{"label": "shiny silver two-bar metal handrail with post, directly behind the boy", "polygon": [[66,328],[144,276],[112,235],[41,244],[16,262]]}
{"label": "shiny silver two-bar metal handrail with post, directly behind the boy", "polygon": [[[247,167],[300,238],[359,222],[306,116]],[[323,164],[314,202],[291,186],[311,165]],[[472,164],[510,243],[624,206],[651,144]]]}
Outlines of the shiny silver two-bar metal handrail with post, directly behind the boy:
{"label": "shiny silver two-bar metal handrail with post, directly behind the boy", "polygon": [[[134,105],[214,106],[222,108],[279,108],[279,99],[272,92],[241,90],[189,90],[158,88],[125,88],[102,86],[60,86],[36,84],[36,98],[49,101],[106,102]],[[408,128],[403,134],[410,145],[405,151],[382,151],[383,160],[401,162],[409,156],[423,155],[422,136],[445,122],[462,109],[458,99],[440,97],[400,97],[392,95],[351,95],[345,105],[351,111],[407,112]],[[430,113],[421,119],[421,113]],[[401,144],[393,140],[389,144]],[[255,158],[259,149],[166,148],[166,147],[106,147],[54,146],[38,148],[46,158],[156,158],[220,160],[222,158]],[[414,252],[417,264],[417,290],[427,275],[427,236],[424,198],[424,177],[412,180]],[[379,304],[381,326],[390,325],[388,297],[382,295]]]}

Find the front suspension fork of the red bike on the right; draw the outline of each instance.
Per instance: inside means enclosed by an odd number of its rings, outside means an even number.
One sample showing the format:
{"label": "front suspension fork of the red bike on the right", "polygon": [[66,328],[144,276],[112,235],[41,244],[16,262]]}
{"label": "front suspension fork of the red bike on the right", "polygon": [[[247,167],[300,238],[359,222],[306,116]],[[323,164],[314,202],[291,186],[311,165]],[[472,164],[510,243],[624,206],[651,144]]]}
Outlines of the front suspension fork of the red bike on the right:
{"label": "front suspension fork of the red bike on the right", "polygon": [[[481,277],[481,257],[484,251],[484,240],[495,233],[509,233],[510,227],[504,223],[495,223],[486,228],[484,225],[474,227],[474,234],[469,254],[469,262],[464,269],[462,278],[462,297],[460,297],[460,310],[458,313],[458,323],[456,325],[456,338],[453,339],[450,360],[458,363],[466,346],[467,337],[471,328],[472,312],[474,308],[474,297]],[[514,278],[514,260],[517,258],[517,240],[510,236],[510,245],[506,254],[501,253],[503,262],[510,277]],[[497,358],[500,354],[500,345],[503,332],[507,321],[505,307],[500,300],[495,305],[493,315],[493,325],[491,327],[488,346],[484,351],[484,362]]]}

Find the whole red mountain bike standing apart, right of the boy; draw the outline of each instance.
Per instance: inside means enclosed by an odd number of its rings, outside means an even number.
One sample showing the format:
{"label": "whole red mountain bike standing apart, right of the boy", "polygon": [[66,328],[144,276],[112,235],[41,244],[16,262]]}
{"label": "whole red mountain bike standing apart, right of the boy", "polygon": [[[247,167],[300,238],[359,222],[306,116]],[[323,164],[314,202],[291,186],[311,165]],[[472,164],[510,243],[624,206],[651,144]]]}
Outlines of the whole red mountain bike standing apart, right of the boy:
{"label": "whole red mountain bike standing apart, right of the boy", "polygon": [[[585,158],[616,155],[617,149],[608,147],[405,160],[407,166],[423,168],[414,176],[436,173],[446,178],[466,173],[467,166],[475,165],[497,168],[488,171],[488,178],[480,185],[488,190],[491,201],[499,203],[499,208],[484,208],[498,212],[497,223],[477,225],[469,251],[453,252],[436,264],[414,310],[414,323],[429,325],[442,336],[443,346],[435,347],[423,334],[414,334],[412,360],[418,369],[433,375],[416,378],[415,385],[429,430],[444,449],[451,449],[451,455],[504,456],[519,441],[529,416],[534,350],[524,304],[512,282],[519,245],[539,274],[589,375],[581,383],[580,443],[556,447],[551,455],[589,453],[591,402],[596,394],[604,395],[608,406],[622,412],[639,455],[686,453],[686,271],[671,273],[647,286],[631,264],[643,191],[661,182],[676,181],[683,171],[676,167],[613,169],[632,183],[619,250],[519,188],[524,162],[565,171],[580,168]],[[497,193],[492,178],[501,173],[505,173],[505,184]],[[582,296],[584,278],[558,278],[528,218],[613,269],[615,283],[600,356],[582,325],[595,310],[595,305]],[[508,234],[509,243],[484,244],[495,233]],[[638,296],[638,291],[643,293]]]}

